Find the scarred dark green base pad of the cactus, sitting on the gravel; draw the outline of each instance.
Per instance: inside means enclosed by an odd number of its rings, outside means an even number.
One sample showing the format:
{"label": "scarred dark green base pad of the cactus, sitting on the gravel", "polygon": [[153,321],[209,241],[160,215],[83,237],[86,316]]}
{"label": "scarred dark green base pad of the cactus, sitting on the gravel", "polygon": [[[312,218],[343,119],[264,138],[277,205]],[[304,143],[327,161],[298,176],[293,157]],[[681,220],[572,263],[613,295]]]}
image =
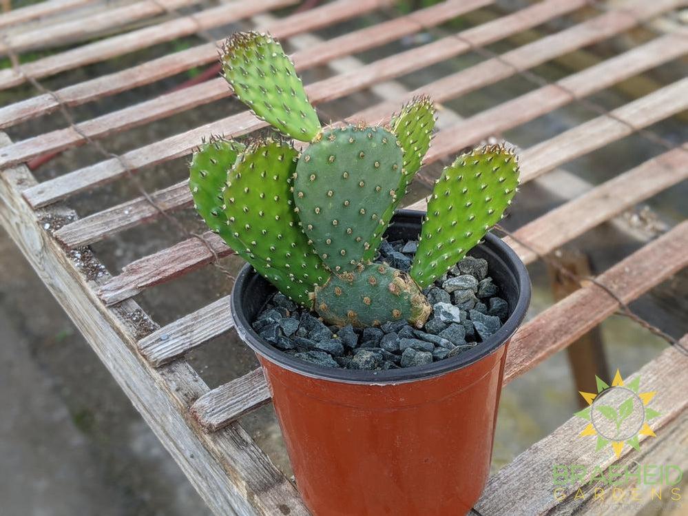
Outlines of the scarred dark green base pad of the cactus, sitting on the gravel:
{"label": "scarred dark green base pad of the cactus, sitting on the gravel", "polygon": [[355,271],[333,274],[329,282],[317,287],[315,311],[326,323],[340,327],[407,320],[421,328],[431,308],[407,274],[386,264],[368,263]]}

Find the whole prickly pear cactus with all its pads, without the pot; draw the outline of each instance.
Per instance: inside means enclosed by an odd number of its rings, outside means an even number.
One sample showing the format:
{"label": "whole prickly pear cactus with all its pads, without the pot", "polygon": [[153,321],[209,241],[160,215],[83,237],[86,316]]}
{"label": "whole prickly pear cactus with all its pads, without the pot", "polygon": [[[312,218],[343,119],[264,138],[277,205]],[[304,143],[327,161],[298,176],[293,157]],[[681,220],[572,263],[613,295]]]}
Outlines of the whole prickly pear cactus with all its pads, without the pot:
{"label": "whole prickly pear cactus with all its pads, without the pot", "polygon": [[258,274],[327,324],[403,319],[422,327],[431,311],[423,289],[511,203],[519,183],[512,150],[488,145],[444,169],[407,274],[373,259],[430,146],[430,99],[413,99],[385,125],[322,127],[269,34],[234,34],[220,59],[237,98],[275,135],[243,143],[212,136],[200,145],[189,180],[200,216]]}

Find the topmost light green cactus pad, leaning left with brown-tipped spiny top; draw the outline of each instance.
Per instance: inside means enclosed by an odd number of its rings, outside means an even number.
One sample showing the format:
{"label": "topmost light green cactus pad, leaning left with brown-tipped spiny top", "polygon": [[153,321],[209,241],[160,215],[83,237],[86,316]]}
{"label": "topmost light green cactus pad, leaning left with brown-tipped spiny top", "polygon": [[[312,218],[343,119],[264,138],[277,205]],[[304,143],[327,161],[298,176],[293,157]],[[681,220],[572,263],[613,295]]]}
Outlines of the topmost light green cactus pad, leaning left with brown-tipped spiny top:
{"label": "topmost light green cactus pad, leaning left with brown-tipped spiny top", "polygon": [[320,132],[291,59],[269,34],[233,34],[222,46],[220,59],[225,79],[256,116],[297,140],[311,141]]}

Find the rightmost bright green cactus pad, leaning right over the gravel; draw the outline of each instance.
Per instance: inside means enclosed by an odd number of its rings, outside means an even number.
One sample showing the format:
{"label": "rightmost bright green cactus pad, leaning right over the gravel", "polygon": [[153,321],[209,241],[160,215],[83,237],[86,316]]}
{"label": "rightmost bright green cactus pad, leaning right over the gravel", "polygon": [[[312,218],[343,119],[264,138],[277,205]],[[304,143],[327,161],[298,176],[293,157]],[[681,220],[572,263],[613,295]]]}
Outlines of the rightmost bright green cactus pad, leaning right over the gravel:
{"label": "rightmost bright green cactus pad, leaning right over the gravel", "polygon": [[411,277],[425,288],[499,222],[519,185],[512,151],[490,145],[459,156],[444,169],[428,202]]}

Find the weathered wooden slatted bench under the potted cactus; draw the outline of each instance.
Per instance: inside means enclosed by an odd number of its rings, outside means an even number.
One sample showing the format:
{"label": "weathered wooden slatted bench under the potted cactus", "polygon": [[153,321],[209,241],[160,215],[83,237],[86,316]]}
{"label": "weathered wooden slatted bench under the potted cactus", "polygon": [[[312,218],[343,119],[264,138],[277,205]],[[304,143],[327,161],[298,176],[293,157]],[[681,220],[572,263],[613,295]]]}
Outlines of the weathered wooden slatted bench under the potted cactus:
{"label": "weathered wooden slatted bench under the potted cactus", "polygon": [[[187,181],[164,180],[160,174],[164,174],[165,166],[158,166],[154,172],[152,167],[187,158],[202,136],[242,136],[265,124],[247,111],[223,113],[203,125],[167,131],[167,136],[157,141],[137,143],[121,154],[110,154],[101,146],[103,142],[136,127],[165,124],[194,107],[227,99],[231,91],[223,79],[209,79],[92,118],[80,118],[72,124],[70,113],[74,108],[107,102],[122,92],[213,64],[217,30],[228,25],[269,30],[275,37],[289,41],[295,49],[297,68],[313,77],[306,85],[313,103],[327,105],[353,94],[375,92],[377,100],[366,103],[365,109],[351,110],[340,118],[384,121],[414,95],[430,94],[441,109],[439,132],[426,165],[562,107],[583,105],[593,110],[590,120],[520,152],[523,183],[533,182],[551,191],[554,180],[548,183],[548,178],[556,176],[574,185],[573,193],[556,192],[565,200],[561,205],[505,236],[527,264],[556,260],[553,251],[604,223],[627,229],[619,217],[624,211],[688,178],[688,144],[672,143],[651,130],[656,123],[688,108],[688,79],[658,85],[656,90],[629,99],[613,110],[604,110],[588,99],[638,74],[685,58],[688,30],[671,19],[662,25],[671,30],[662,33],[651,25],[658,17],[671,17],[686,8],[685,0],[517,2],[520,9],[510,6],[497,19],[459,30],[438,26],[482,8],[494,8],[495,2],[447,0],[409,14],[399,14],[393,0],[333,0],[309,9],[298,8],[298,3],[233,0],[211,6],[202,0],[145,0],[109,5],[96,0],[47,0],[0,14],[0,29],[8,28],[8,34],[0,39],[0,53],[7,54],[12,62],[10,68],[0,70],[0,89],[15,91],[26,85],[39,89],[35,96],[0,107],[0,129],[11,132],[25,123],[59,114],[68,122],[19,141],[0,133],[0,222],[218,515],[307,514],[295,486],[239,422],[243,415],[270,402],[269,389],[260,369],[227,378],[211,389],[185,359],[187,353],[232,331],[228,295],[162,327],[138,305],[136,297],[174,284],[204,267],[218,265],[218,260],[232,251],[209,231],[198,235],[180,230],[169,246],[149,251],[111,274],[88,246],[127,230],[156,231],[154,222],[163,218],[176,220],[181,227],[175,217],[191,206]],[[274,10],[281,10],[280,17],[269,14]],[[65,19],[70,13],[74,19]],[[362,23],[363,19],[382,21]],[[326,29],[342,23],[348,23],[346,32],[331,39],[313,34],[326,33]],[[511,50],[501,53],[488,50],[490,45],[505,43],[510,37],[543,25],[547,29],[536,41],[516,48],[509,46]],[[638,28],[643,30],[642,43],[589,68],[554,82],[544,81],[537,74],[538,67],[545,63],[565,59],[566,54]],[[105,36],[92,39],[103,32]],[[383,52],[384,57],[367,63],[355,57],[420,32],[432,34],[432,41],[391,54]],[[201,36],[198,41],[205,42],[83,82],[67,81],[69,85],[63,85],[65,81],[61,81],[56,90],[43,83],[53,76],[69,78],[73,70],[85,65],[107,63],[194,34]],[[300,39],[304,41],[299,43]],[[74,45],[75,41],[79,44]],[[71,48],[65,47],[67,43]],[[21,52],[48,44],[56,48],[52,54],[19,65]],[[451,63],[464,54],[484,59],[461,70],[448,67],[457,71],[420,87],[407,88],[401,81],[392,87],[387,82],[430,65]],[[531,81],[534,89],[467,118],[442,105],[516,78]],[[373,94],[369,96],[373,98]],[[55,127],[54,123],[50,127]],[[660,147],[660,152],[596,185],[559,168],[631,134],[644,136]],[[77,147],[81,145],[98,149],[96,161],[42,181],[28,167],[32,160],[46,154],[79,152]],[[426,180],[432,180],[427,177],[431,169],[428,167],[424,173]],[[143,183],[139,179],[150,174],[156,174],[155,184],[163,186],[140,191]],[[136,185],[134,194],[79,216],[79,200],[87,194],[98,194],[111,183],[132,183]],[[417,200],[410,207],[424,209],[426,200]],[[518,205],[514,209],[518,210]],[[629,303],[688,266],[687,222],[677,223],[643,244],[596,278],[583,280],[578,290],[521,327],[508,353],[506,383],[565,349],[612,313],[627,311]],[[77,253],[79,260],[74,259]],[[641,454],[626,451],[618,459],[609,455],[605,466],[627,464],[640,460],[638,457],[661,460],[671,456],[676,464],[688,463],[688,448],[682,446],[677,451],[672,445],[677,440],[685,444],[688,434],[688,356],[682,351],[688,347],[688,335],[678,341],[666,338],[674,345],[638,371],[666,400],[655,422],[660,436],[643,442]],[[563,500],[552,497],[552,457],[570,463],[586,458],[578,448],[566,446],[567,439],[577,433],[577,425],[575,419],[564,422],[494,473],[474,509],[475,515],[592,510],[590,493],[576,497],[576,484],[566,486]],[[614,511],[634,513],[622,505],[615,506]]]}

